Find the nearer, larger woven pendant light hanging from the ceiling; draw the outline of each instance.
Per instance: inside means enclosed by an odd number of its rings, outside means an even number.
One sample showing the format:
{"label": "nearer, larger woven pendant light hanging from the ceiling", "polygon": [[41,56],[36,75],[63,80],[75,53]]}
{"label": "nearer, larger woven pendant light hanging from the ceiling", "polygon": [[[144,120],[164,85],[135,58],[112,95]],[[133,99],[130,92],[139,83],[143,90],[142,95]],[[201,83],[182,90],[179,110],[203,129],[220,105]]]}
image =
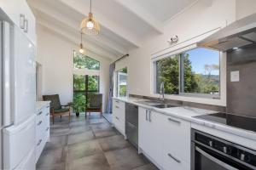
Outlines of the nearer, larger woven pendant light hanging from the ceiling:
{"label": "nearer, larger woven pendant light hanging from the ceiling", "polygon": [[80,29],[84,34],[88,35],[98,35],[100,33],[100,25],[93,18],[93,14],[91,13],[91,0],[90,0],[90,13],[84,20],[82,20]]}

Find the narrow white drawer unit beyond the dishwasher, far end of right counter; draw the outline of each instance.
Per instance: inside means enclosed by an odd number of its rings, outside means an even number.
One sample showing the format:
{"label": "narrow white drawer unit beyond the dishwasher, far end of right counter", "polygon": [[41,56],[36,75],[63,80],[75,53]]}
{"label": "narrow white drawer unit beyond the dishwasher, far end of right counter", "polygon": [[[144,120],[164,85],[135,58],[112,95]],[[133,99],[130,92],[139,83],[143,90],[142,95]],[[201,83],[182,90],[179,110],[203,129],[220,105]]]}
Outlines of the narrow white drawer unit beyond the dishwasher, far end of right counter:
{"label": "narrow white drawer unit beyond the dishwasher, far end of right counter", "polygon": [[113,126],[125,136],[125,102],[113,99]]}

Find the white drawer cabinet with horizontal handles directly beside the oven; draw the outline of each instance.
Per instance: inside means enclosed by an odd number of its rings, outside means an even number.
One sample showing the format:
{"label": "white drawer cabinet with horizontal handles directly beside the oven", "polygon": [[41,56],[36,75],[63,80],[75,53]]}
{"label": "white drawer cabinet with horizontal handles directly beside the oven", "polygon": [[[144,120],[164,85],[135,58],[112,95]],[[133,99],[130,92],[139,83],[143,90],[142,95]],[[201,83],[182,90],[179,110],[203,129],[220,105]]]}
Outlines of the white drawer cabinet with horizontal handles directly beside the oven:
{"label": "white drawer cabinet with horizontal handles directly beside the oven", "polygon": [[162,122],[163,169],[189,170],[190,122],[165,116]]}

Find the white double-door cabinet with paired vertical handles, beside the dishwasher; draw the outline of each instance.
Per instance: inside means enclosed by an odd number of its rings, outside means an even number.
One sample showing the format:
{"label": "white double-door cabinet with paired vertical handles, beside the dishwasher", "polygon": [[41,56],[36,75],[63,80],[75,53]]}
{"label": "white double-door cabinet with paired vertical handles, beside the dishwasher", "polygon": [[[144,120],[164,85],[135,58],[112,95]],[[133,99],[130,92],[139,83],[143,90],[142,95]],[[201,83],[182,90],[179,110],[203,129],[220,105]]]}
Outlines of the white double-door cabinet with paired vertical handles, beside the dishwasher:
{"label": "white double-door cabinet with paired vertical handles, beside the dishwasher", "polygon": [[162,165],[162,122],[164,115],[139,107],[138,144],[143,154],[158,167]]}

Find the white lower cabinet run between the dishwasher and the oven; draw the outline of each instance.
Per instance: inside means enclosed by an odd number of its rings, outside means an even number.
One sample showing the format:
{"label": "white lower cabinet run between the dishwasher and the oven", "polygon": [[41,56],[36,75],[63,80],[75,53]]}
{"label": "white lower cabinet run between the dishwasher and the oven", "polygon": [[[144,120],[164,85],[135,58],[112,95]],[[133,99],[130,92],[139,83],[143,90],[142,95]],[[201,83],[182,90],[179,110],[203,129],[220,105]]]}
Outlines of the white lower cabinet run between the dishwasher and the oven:
{"label": "white lower cabinet run between the dishwasher and the oven", "polygon": [[160,169],[190,169],[190,122],[139,107],[138,141]]}

